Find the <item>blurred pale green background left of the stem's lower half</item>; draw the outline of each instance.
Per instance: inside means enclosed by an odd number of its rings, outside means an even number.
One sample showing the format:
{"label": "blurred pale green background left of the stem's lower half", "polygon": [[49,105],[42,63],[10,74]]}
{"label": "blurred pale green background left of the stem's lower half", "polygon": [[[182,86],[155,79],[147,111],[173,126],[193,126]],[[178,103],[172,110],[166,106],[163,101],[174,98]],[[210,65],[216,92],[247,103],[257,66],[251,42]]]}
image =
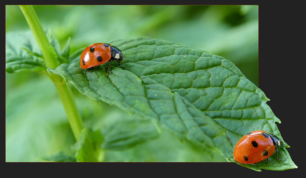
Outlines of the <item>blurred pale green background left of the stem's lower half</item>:
{"label": "blurred pale green background left of the stem's lower half", "polygon": [[18,84],[6,93],[6,161],[42,161],[59,150],[73,155],[75,139],[54,83],[32,77]]}

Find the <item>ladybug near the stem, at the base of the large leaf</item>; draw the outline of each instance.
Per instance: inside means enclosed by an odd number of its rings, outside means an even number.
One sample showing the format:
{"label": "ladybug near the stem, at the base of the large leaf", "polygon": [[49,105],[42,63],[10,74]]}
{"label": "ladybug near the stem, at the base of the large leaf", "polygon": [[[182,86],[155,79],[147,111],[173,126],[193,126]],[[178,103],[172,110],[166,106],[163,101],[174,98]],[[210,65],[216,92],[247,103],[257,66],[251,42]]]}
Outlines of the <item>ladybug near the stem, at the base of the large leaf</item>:
{"label": "ladybug near the stem, at the base of the large leaf", "polygon": [[118,64],[122,62],[122,52],[116,46],[108,43],[95,43],[84,49],[81,54],[80,65],[82,69],[88,69],[108,63],[108,76],[110,74],[110,61],[117,61]]}

